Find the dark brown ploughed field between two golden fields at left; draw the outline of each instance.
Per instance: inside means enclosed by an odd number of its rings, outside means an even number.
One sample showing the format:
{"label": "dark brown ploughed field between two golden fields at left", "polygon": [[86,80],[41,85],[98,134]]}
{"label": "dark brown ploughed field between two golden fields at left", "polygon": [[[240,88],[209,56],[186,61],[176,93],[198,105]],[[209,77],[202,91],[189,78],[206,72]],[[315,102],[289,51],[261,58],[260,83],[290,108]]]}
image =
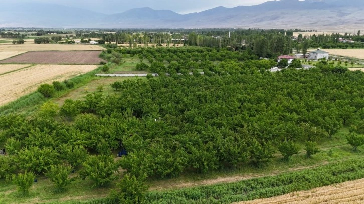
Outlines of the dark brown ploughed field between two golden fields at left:
{"label": "dark brown ploughed field between two golden fields at left", "polygon": [[17,64],[99,64],[100,51],[31,51],[0,63]]}

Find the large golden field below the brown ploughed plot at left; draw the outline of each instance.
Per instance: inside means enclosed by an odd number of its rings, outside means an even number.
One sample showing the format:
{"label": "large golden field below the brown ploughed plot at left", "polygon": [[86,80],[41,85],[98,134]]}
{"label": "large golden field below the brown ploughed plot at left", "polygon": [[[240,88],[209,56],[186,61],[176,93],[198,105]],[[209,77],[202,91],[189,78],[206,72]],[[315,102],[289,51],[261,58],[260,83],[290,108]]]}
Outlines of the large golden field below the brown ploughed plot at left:
{"label": "large golden field below the brown ploughed plot at left", "polygon": [[96,68],[96,65],[36,65],[1,75],[0,105],[37,90],[40,84],[63,81]]}

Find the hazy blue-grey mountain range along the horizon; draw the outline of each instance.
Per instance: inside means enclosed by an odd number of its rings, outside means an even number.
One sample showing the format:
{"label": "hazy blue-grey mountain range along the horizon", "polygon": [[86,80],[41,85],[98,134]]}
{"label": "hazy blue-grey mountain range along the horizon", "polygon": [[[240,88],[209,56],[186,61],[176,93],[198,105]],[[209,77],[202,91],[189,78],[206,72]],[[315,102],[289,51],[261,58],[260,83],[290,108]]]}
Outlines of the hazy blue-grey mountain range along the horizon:
{"label": "hazy blue-grey mountain range along the horizon", "polygon": [[364,29],[363,0],[280,0],[199,13],[135,8],[104,14],[46,3],[2,5],[0,27]]}

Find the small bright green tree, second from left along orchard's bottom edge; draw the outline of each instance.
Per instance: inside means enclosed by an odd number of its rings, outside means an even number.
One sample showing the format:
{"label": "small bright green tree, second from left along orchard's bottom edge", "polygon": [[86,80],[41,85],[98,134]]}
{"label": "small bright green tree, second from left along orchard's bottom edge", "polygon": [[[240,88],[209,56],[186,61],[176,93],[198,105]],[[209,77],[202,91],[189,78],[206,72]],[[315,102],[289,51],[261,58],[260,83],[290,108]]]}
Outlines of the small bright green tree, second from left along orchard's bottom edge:
{"label": "small bright green tree, second from left along orchard's bottom edge", "polygon": [[56,192],[62,192],[65,190],[66,185],[71,184],[75,180],[75,178],[68,178],[71,171],[71,166],[51,165],[45,175],[54,183]]}

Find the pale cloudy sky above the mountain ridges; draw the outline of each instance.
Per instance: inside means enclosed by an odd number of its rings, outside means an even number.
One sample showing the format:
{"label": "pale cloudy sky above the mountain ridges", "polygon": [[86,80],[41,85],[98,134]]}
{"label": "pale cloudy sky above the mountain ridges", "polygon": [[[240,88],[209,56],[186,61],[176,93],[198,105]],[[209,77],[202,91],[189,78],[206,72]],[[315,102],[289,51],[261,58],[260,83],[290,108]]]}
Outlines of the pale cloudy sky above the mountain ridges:
{"label": "pale cloudy sky above the mountain ridges", "polygon": [[271,0],[1,0],[2,3],[42,2],[85,8],[102,13],[121,13],[132,8],[150,7],[185,14],[210,8],[257,5]]}

